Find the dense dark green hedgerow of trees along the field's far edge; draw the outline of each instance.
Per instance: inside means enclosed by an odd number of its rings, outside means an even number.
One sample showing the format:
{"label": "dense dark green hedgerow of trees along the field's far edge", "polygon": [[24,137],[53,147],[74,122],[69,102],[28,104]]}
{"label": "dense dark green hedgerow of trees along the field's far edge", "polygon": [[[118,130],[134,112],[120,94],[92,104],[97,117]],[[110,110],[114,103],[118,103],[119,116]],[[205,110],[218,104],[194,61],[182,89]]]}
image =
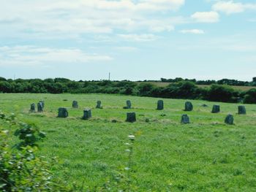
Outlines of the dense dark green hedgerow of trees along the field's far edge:
{"label": "dense dark green hedgerow of trees along the field's far edge", "polygon": [[200,88],[192,80],[180,80],[171,82],[166,87],[158,87],[150,82],[128,80],[73,81],[66,78],[6,80],[0,77],[0,93],[116,93],[170,99],[203,99],[256,104],[256,88],[249,91],[238,91],[229,85],[219,85],[218,83],[211,84],[207,88]]}

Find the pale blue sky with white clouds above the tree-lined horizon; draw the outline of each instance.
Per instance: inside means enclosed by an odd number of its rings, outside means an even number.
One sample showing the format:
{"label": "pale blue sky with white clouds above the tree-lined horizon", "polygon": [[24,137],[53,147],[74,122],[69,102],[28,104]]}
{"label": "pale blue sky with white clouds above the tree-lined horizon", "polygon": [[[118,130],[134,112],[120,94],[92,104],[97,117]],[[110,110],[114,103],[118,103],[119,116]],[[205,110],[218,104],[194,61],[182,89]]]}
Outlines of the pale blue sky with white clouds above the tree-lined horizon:
{"label": "pale blue sky with white clouds above the tree-lined horizon", "polygon": [[0,77],[252,80],[255,0],[0,0]]}

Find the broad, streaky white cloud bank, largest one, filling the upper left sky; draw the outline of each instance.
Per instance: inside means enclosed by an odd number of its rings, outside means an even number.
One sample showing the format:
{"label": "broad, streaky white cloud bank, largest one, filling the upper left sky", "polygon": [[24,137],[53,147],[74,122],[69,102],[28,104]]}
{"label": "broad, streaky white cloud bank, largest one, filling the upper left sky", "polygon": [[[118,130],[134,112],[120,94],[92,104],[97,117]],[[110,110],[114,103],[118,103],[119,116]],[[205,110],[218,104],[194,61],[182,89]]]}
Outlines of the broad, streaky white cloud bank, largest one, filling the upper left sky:
{"label": "broad, streaky white cloud bank, largest one, filling the upper left sky", "polygon": [[1,37],[31,34],[40,39],[65,39],[114,31],[172,31],[177,20],[163,19],[162,15],[178,10],[184,0],[0,0],[0,3],[0,23],[4,23],[0,30],[7,31]]}

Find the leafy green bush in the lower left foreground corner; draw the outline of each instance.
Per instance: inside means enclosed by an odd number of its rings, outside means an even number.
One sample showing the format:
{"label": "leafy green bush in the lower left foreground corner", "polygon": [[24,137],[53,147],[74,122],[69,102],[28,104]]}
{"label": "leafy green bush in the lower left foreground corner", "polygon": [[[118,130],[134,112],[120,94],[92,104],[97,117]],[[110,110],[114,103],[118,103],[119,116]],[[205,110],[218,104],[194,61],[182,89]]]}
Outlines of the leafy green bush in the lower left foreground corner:
{"label": "leafy green bush in the lower left foreground corner", "polygon": [[11,150],[9,131],[0,130],[0,191],[71,191],[53,178],[50,167],[56,161],[52,159],[49,163],[35,155],[37,141],[45,134],[34,126],[18,122],[14,115],[0,112],[0,119],[12,126],[18,125],[15,136],[21,140],[15,145],[19,150]]}

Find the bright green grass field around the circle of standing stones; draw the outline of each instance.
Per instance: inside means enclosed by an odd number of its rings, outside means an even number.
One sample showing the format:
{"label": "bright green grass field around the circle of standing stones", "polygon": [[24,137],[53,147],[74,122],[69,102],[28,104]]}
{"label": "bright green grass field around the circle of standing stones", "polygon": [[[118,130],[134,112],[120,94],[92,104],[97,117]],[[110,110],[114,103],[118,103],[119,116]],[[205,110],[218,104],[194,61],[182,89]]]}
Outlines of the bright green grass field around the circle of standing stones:
{"label": "bright green grass field around the circle of standing stones", "polygon": [[[122,109],[127,99],[134,109]],[[29,113],[30,104],[39,100],[45,101],[45,112]],[[73,100],[79,109],[72,109]],[[94,109],[97,100],[103,110]],[[119,173],[125,174],[124,144],[132,133],[135,191],[167,191],[170,183],[171,191],[256,191],[255,104],[245,105],[247,115],[236,114],[238,104],[225,103],[219,103],[219,114],[211,114],[212,102],[192,101],[194,111],[184,112],[184,100],[163,99],[162,111],[156,110],[157,100],[104,94],[0,94],[0,110],[15,112],[20,120],[45,131],[39,153],[59,156],[53,172],[68,183],[84,182],[89,188],[108,180],[114,183]],[[59,107],[68,107],[69,118],[56,118]],[[86,107],[91,107],[93,118],[81,120]],[[136,112],[138,121],[126,123],[127,112]],[[191,124],[181,125],[184,113]],[[224,123],[228,113],[234,115],[233,126]]]}

